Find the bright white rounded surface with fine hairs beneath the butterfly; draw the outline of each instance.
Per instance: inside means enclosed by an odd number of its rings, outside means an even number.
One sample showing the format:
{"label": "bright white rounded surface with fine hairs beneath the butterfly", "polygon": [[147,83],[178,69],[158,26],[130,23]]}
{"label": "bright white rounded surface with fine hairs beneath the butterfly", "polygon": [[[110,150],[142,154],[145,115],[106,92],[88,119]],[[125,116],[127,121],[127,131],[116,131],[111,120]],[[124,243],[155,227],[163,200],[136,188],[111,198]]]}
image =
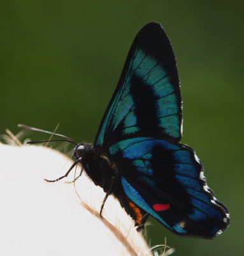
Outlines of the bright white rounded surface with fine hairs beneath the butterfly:
{"label": "bright white rounded surface with fine hairs beneath the butterfly", "polygon": [[[151,255],[113,197],[104,206],[104,219],[99,217],[104,192],[85,174],[76,190],[67,179],[43,180],[64,175],[72,160],[37,146],[0,144],[0,152],[0,255]],[[74,172],[68,180],[73,177]]]}

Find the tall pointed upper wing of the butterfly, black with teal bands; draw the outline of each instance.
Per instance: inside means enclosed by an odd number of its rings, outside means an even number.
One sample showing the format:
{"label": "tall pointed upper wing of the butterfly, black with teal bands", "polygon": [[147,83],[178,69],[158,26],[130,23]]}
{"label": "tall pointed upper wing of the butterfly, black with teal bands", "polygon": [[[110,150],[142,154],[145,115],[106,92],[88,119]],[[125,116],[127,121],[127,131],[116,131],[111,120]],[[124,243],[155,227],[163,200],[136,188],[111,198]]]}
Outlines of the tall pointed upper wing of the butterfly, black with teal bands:
{"label": "tall pointed upper wing of the butterfly, black with teal bands", "polygon": [[182,100],[175,56],[164,29],[152,22],[133,42],[95,146],[108,147],[139,136],[178,142],[181,128]]}

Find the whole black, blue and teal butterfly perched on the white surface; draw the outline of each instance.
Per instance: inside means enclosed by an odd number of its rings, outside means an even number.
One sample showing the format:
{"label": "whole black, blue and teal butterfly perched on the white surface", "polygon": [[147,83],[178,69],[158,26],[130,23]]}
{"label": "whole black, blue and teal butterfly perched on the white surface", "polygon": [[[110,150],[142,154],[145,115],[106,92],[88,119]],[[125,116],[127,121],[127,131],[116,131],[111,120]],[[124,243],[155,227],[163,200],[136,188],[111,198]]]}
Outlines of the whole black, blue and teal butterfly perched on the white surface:
{"label": "whole black, blue and teal butterfly perched on the white surface", "polygon": [[101,215],[114,195],[136,227],[150,215],[178,235],[210,239],[229,225],[229,213],[206,184],[194,149],[181,144],[181,137],[175,54],[161,24],[151,22],[133,41],[94,146],[77,144],[71,169],[81,163],[103,188]]}

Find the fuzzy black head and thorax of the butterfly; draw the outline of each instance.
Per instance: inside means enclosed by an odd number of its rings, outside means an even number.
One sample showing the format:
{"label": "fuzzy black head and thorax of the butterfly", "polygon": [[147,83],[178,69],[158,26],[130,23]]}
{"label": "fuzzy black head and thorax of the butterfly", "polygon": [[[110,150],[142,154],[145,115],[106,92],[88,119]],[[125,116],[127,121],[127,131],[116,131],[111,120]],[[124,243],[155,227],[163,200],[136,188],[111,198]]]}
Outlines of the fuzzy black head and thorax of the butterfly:
{"label": "fuzzy black head and thorax of the butterfly", "polygon": [[92,144],[78,144],[74,153],[76,158],[82,158],[82,166],[90,179],[97,186],[101,186],[104,192],[108,192],[111,186],[111,177],[118,178],[116,165],[101,149],[93,147]]}

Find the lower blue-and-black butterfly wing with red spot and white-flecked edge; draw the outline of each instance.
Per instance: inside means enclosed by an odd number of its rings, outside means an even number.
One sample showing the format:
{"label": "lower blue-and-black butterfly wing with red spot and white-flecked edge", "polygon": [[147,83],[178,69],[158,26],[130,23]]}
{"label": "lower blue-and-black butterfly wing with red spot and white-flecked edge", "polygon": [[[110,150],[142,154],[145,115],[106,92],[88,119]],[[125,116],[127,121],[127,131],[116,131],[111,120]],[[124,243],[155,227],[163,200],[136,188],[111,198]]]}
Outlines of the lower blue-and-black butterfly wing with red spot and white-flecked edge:
{"label": "lower blue-and-black butterfly wing with red spot and white-flecked edge", "polygon": [[226,229],[227,208],[207,186],[203,165],[190,147],[138,137],[117,142],[108,153],[127,197],[171,231],[212,238]]}

